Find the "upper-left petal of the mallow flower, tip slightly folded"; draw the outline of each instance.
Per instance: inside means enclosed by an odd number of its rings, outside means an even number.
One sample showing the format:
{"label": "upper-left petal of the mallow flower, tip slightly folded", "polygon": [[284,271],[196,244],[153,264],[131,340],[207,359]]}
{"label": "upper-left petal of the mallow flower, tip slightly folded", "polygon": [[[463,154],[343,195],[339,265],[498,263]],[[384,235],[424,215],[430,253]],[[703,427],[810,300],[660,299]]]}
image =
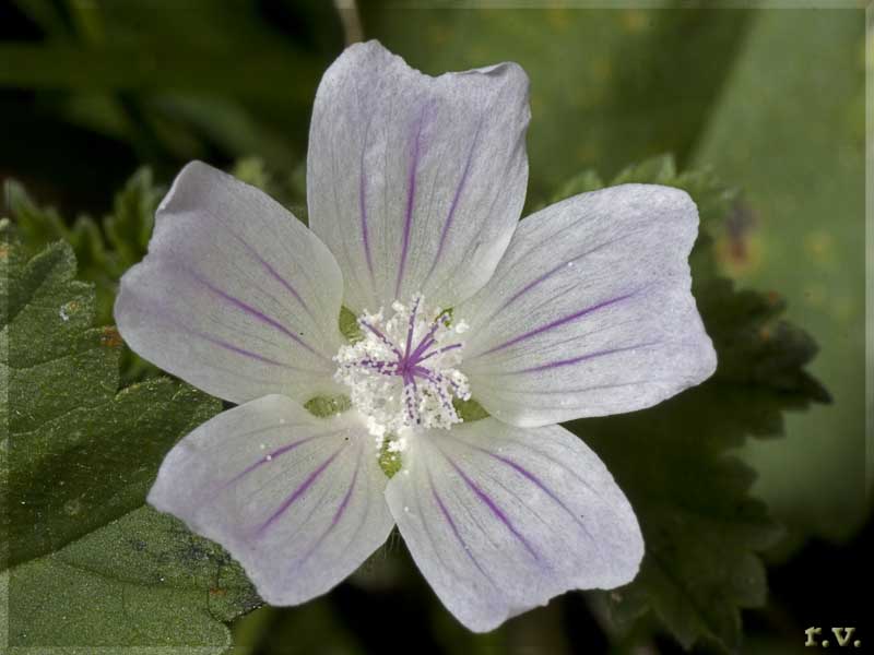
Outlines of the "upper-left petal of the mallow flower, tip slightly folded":
{"label": "upper-left petal of the mallow flower, tip slightly folded", "polygon": [[328,248],[255,187],[200,162],[161,203],[115,315],[145,359],[227,401],[333,391],[343,281]]}

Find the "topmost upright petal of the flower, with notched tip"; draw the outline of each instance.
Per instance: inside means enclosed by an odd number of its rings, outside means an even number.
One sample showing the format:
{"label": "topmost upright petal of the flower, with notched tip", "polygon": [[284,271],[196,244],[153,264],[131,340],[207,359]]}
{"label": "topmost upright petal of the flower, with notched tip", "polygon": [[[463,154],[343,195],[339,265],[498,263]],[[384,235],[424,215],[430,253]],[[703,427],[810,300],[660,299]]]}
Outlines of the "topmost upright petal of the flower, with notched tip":
{"label": "topmost upright petal of the flower, with notched tip", "polygon": [[485,284],[522,209],[529,116],[513,63],[429,78],[377,41],[340,56],[316,94],[307,200],[347,307],[416,291],[451,307]]}

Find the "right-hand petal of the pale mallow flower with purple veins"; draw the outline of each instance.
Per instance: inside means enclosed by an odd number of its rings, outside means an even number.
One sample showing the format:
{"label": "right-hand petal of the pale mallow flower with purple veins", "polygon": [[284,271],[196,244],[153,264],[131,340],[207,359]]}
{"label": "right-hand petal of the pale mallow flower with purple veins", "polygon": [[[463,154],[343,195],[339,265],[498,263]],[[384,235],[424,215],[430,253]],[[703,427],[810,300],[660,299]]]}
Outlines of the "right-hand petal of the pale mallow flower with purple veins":
{"label": "right-hand petal of the pale mallow flower with purple veins", "polygon": [[653,184],[522,221],[492,281],[456,308],[474,397],[542,426],[649,407],[709,378],[716,353],[689,290],[697,227],[684,191]]}

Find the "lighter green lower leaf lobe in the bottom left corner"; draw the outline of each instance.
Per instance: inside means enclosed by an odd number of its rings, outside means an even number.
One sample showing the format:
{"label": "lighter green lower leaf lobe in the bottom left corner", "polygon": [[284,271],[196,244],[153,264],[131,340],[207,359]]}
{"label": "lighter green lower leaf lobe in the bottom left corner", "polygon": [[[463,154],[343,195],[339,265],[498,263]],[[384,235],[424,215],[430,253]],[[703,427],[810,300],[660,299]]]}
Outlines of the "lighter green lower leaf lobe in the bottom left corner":
{"label": "lighter green lower leaf lobe in the bottom left corner", "polygon": [[225,622],[260,604],[215,544],[145,507],[7,575],[9,607],[0,609],[11,654],[158,645],[189,646],[174,655],[225,653]]}

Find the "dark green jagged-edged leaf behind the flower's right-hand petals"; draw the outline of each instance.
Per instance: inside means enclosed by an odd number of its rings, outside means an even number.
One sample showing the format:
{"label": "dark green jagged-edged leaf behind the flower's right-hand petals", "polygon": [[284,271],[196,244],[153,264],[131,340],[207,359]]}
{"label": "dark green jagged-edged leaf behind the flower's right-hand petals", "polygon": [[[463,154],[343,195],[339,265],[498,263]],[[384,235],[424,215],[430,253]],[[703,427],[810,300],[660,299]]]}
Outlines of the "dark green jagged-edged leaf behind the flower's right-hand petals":
{"label": "dark green jagged-edged leaf behind the flower's right-hand petals", "polygon": [[708,171],[676,172],[665,156],[628,168],[611,183],[629,181],[681,187],[698,204],[693,293],[719,368],[704,384],[656,407],[568,426],[627,493],[647,544],[637,579],[605,602],[621,627],[651,611],[686,647],[708,641],[736,650],[740,609],[765,602],[757,552],[781,533],[766,505],[749,496],[754,472],[727,453],[748,436],[779,433],[784,410],[829,397],[804,371],[816,346],[781,319],[782,300],[739,291],[719,274],[709,233],[722,229],[737,194]]}

